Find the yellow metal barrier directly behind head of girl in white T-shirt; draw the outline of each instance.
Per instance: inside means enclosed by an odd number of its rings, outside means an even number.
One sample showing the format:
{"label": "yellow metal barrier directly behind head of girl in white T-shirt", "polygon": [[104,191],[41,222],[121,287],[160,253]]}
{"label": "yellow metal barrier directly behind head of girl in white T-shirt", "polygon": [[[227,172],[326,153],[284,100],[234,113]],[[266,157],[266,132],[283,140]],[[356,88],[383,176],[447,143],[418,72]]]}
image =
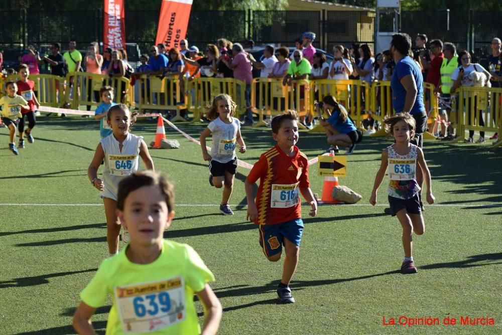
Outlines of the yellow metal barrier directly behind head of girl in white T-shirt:
{"label": "yellow metal barrier directly behind head of girl in white T-shirt", "polygon": [[197,122],[204,114],[206,106],[210,106],[215,96],[228,94],[237,105],[234,117],[239,118],[246,110],[244,91],[245,82],[234,78],[207,78],[200,77],[193,80],[195,87],[194,117]]}

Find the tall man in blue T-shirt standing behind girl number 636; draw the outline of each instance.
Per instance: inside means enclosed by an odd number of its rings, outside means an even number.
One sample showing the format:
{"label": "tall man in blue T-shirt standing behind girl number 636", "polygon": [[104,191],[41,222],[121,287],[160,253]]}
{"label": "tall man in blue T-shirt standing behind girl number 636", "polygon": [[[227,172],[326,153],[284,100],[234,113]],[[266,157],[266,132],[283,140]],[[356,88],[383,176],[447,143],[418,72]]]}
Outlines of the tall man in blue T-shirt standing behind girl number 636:
{"label": "tall man in blue T-shirt standing behind girl number 636", "polygon": [[417,63],[408,56],[411,38],[408,34],[392,36],[391,54],[396,67],[391,78],[392,105],[396,113],[410,113],[416,121],[415,138],[412,140],[422,147],[422,134],[427,129],[427,113],[424,105],[424,79]]}

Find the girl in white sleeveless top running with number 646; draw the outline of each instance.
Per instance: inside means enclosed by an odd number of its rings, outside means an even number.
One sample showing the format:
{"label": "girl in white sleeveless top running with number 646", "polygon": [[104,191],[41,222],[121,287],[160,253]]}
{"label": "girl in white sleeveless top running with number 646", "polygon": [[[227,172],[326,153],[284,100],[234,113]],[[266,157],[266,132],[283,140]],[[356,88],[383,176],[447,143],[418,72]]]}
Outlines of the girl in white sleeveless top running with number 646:
{"label": "girl in white sleeveless top running with number 646", "polygon": [[[145,170],[154,170],[154,163],[143,137],[129,132],[136,117],[124,104],[110,107],[106,122],[112,129],[111,135],[101,138],[94,157],[87,169],[87,176],[92,186],[100,191],[106,215],[106,241],[110,255],[118,253],[118,235],[120,223],[117,222],[117,189],[118,183],[137,171],[139,157],[142,158]],[[104,160],[102,180],[97,177],[99,166]],[[129,242],[129,234],[124,228],[122,241]]]}

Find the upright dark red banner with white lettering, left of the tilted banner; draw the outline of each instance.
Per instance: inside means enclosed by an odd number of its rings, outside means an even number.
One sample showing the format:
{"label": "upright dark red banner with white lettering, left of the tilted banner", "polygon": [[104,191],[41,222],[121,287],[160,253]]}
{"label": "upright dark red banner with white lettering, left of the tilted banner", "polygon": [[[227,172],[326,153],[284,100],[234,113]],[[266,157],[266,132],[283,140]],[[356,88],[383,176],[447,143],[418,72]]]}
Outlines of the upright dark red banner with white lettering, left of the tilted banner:
{"label": "upright dark red banner with white lettering, left of the tilted banner", "polygon": [[103,48],[126,49],[125,18],[123,0],[104,0]]}

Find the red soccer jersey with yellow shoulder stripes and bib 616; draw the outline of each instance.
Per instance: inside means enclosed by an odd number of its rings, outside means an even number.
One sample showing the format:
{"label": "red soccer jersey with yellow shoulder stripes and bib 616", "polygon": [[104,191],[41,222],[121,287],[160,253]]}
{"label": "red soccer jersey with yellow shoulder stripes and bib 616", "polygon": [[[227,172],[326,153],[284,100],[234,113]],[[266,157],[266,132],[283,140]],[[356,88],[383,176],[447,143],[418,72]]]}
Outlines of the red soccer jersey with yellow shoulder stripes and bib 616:
{"label": "red soccer jersey with yellow shoulder stripes and bib 616", "polygon": [[309,164],[297,146],[292,157],[278,145],[263,153],[249,172],[247,182],[255,184],[258,179],[255,223],[275,225],[302,217],[299,189],[310,187]]}

